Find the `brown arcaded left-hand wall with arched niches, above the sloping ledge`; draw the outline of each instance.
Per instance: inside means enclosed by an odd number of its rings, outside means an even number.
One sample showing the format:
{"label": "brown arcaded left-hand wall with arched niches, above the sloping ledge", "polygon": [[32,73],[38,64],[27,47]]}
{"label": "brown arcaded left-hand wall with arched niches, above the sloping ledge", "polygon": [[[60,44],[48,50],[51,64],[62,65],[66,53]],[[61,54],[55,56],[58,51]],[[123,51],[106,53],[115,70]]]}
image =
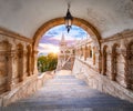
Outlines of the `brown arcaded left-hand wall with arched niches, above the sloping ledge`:
{"label": "brown arcaded left-hand wall with arched niches, above the sloping ledge", "polygon": [[32,40],[0,29],[0,94],[33,75]]}

